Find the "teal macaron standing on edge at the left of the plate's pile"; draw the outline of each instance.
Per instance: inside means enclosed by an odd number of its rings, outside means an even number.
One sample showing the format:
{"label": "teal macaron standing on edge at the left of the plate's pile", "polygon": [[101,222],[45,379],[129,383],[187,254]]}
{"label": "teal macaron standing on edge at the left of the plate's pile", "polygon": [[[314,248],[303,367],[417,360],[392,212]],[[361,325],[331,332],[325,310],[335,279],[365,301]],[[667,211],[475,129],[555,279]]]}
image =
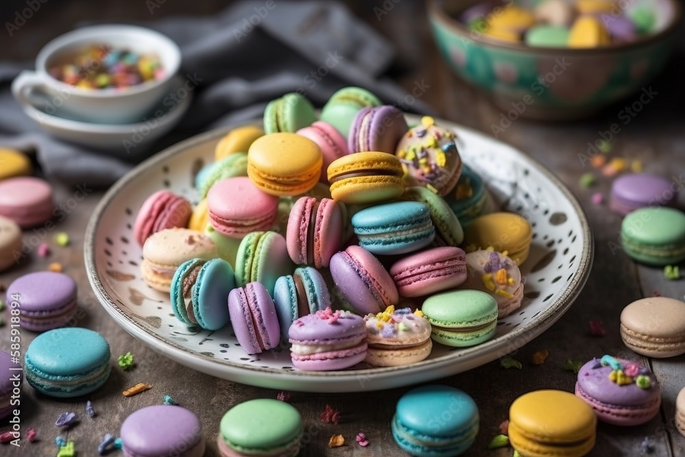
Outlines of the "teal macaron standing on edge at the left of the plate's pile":
{"label": "teal macaron standing on edge at the left of the plate's pile", "polygon": [[[229,321],[228,294],[234,288],[235,275],[225,260],[188,260],[171,280],[171,309],[182,323],[219,330]],[[188,305],[186,297],[190,297]]]}

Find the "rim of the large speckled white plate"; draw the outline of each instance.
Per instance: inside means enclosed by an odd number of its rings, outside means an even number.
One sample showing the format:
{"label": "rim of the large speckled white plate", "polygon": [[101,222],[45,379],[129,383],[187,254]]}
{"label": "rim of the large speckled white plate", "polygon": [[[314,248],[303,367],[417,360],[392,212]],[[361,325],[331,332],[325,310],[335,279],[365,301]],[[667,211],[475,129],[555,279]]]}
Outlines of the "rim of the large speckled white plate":
{"label": "rim of the large speckled white plate", "polygon": [[[409,121],[418,121],[420,119],[420,116],[408,114],[406,115],[406,118]],[[436,119],[436,122],[442,122],[445,124],[453,125],[463,132],[469,132],[469,134],[474,134],[475,136],[482,136],[487,138],[488,140],[492,140],[497,143],[506,145],[506,147],[510,149],[510,153],[519,156],[518,158],[523,159],[525,162],[530,164],[530,166],[540,171],[540,173],[543,173],[543,175],[545,175],[545,177],[547,177],[547,179],[549,179],[552,182],[552,184],[554,184],[560,189],[560,191],[566,197],[566,199],[569,200],[569,203],[571,203],[571,206],[573,206],[573,209],[575,210],[576,214],[580,219],[580,225],[582,225],[584,243],[582,247],[582,255],[580,256],[579,260],[580,264],[578,266],[575,277],[573,277],[573,280],[571,280],[569,286],[567,286],[566,291],[564,291],[564,293],[557,297],[555,301],[553,301],[553,303],[551,303],[546,310],[541,312],[541,317],[536,319],[536,321],[531,321],[529,323],[522,324],[518,328],[512,330],[511,332],[508,332],[506,335],[493,338],[493,340],[486,341],[481,345],[462,348],[461,351],[457,352],[455,355],[452,356],[443,356],[442,358],[438,359],[427,359],[421,362],[416,362],[408,367],[374,367],[369,369],[355,369],[343,371],[284,371],[282,369],[262,368],[258,366],[243,365],[236,362],[232,362],[230,360],[216,360],[215,358],[209,358],[206,356],[202,356],[201,354],[193,354],[189,352],[187,349],[184,349],[182,346],[167,341],[166,339],[161,338],[160,336],[147,332],[147,330],[138,326],[135,323],[135,321],[133,321],[129,316],[127,316],[127,314],[125,314],[125,312],[123,312],[121,308],[119,308],[119,306],[117,306],[117,304],[106,293],[103,286],[103,282],[100,280],[100,276],[95,266],[95,236],[97,234],[97,229],[99,227],[102,214],[105,212],[105,210],[107,210],[107,208],[112,203],[112,200],[116,197],[116,195],[118,195],[120,190],[125,188],[125,186],[127,186],[136,177],[138,177],[138,175],[147,172],[147,170],[152,168],[153,166],[162,164],[164,161],[174,156],[177,156],[179,153],[183,153],[183,151],[186,151],[187,149],[190,149],[202,143],[208,143],[210,140],[217,140],[218,138],[221,138],[221,136],[229,132],[229,130],[240,127],[241,125],[256,125],[259,123],[259,120],[253,120],[252,122],[236,123],[234,125],[221,127],[219,129],[212,129],[209,132],[203,132],[190,138],[186,138],[186,140],[182,140],[179,143],[176,143],[175,145],[171,145],[163,151],[156,153],[150,158],[147,158],[143,162],[140,162],[140,164],[134,167],[134,169],[129,171],[129,173],[121,177],[120,180],[113,184],[97,204],[97,207],[95,208],[95,211],[92,213],[92,216],[90,217],[90,220],[88,221],[88,225],[86,227],[86,234],[84,238],[84,263],[86,266],[86,273],[88,275],[88,282],[90,282],[90,286],[92,290],[95,292],[95,295],[97,296],[98,300],[100,301],[100,304],[103,306],[103,308],[105,308],[108,314],[110,314],[110,316],[114,318],[114,321],[116,321],[116,323],[118,323],[119,326],[121,326],[129,334],[131,334],[135,338],[138,338],[140,341],[146,343],[154,351],[158,351],[164,356],[167,356],[181,363],[182,365],[185,365],[186,367],[196,369],[197,371],[207,373],[214,377],[223,378],[231,380],[233,382],[239,382],[253,386],[269,387],[273,385],[272,382],[255,382],[255,379],[253,378],[255,375],[267,374],[273,380],[281,379],[286,382],[290,382],[292,380],[299,380],[299,382],[309,382],[310,384],[312,382],[321,383],[321,385],[316,386],[315,389],[312,389],[311,386],[308,386],[306,388],[302,388],[301,391],[351,392],[352,390],[350,390],[349,388],[336,388],[336,384],[350,381],[359,382],[360,378],[369,376],[373,378],[390,378],[393,377],[393,375],[395,375],[395,373],[397,373],[398,371],[401,371],[403,377],[406,377],[408,381],[393,382],[393,386],[403,386],[408,384],[414,384],[415,381],[410,380],[410,378],[412,378],[412,375],[424,371],[424,369],[430,369],[432,372],[438,373],[437,375],[434,375],[432,378],[430,378],[432,380],[435,380],[443,378],[445,376],[445,373],[443,372],[446,369],[449,371],[449,365],[452,365],[455,360],[460,359],[462,363],[464,363],[464,365],[467,365],[469,361],[473,362],[474,360],[479,358],[486,358],[488,359],[488,362],[491,362],[499,356],[509,354],[510,352],[519,349],[520,347],[523,347],[523,345],[530,343],[530,341],[532,341],[537,336],[540,336],[540,334],[543,334],[543,332],[549,329],[549,327],[551,327],[553,323],[558,321],[558,319],[560,319],[560,317],[562,317],[562,315],[567,310],[569,310],[575,299],[577,299],[578,295],[580,295],[588,279],[594,260],[595,240],[593,236],[593,231],[588,223],[587,216],[582,206],[580,205],[580,202],[578,201],[577,197],[573,195],[571,190],[568,188],[568,186],[566,186],[566,184],[564,184],[564,182],[562,182],[552,171],[547,169],[545,165],[538,162],[538,160],[530,156],[527,156],[525,153],[523,153],[523,151],[517,149],[512,145],[509,145],[508,143],[499,141],[496,138],[490,138],[483,132],[479,132],[475,129],[464,127],[463,125],[447,121],[445,119]],[[479,351],[479,349],[483,349],[484,347],[486,347],[488,350],[485,354],[482,354],[482,351]],[[477,364],[475,366],[479,365],[484,364]],[[468,371],[473,367],[474,366],[471,365],[470,368],[463,371]],[[216,375],[217,371],[221,371],[222,374],[226,374],[228,376],[218,376]],[[459,372],[460,371],[451,371],[447,373],[447,375],[456,374]],[[381,390],[393,386],[369,386],[369,388],[366,389],[364,389],[362,386],[361,390]],[[298,389],[296,387],[292,387],[290,388],[290,390],[297,391]]]}

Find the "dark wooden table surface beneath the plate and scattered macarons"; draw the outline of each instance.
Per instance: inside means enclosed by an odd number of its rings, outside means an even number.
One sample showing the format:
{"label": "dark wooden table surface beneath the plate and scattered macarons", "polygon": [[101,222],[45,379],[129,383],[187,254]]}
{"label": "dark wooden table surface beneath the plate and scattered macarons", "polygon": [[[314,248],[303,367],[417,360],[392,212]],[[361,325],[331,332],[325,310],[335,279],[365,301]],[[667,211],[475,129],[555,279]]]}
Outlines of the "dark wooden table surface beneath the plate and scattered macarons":
{"label": "dark wooden table surface beneath the plate and scattered macarons", "polygon": [[[149,19],[149,12],[142,1],[119,0],[111,2],[62,2],[60,5],[46,3],[42,14],[36,13],[28,21],[21,34],[17,34],[9,47],[3,47],[0,59],[31,59],[40,46],[49,38],[71,29],[84,18],[95,20],[126,21],[127,19]],[[181,2],[167,2],[155,11],[155,18],[166,14],[189,12],[205,14],[219,10],[225,2],[208,1],[199,5]],[[350,2],[352,3],[352,2]],[[360,2],[361,3],[361,2]],[[386,2],[388,3],[388,2]],[[397,3],[397,0],[395,0]],[[18,8],[23,3],[10,3]],[[487,134],[491,125],[499,122],[501,111],[492,106],[484,96],[466,86],[449,71],[440,59],[423,11],[421,2],[399,1],[395,8],[377,21],[373,8],[382,8],[382,1],[365,5],[353,4],[353,10],[390,38],[397,46],[399,56],[393,67],[393,77],[411,88],[417,80],[425,80],[429,90],[423,101],[434,106],[440,116]],[[14,10],[3,4],[2,18],[11,17]],[[9,15],[9,16],[8,16]],[[4,21],[3,21],[4,23]],[[3,38],[4,39],[4,38]],[[682,41],[682,40],[681,40]],[[614,138],[612,145],[616,156],[641,160],[645,170],[661,173],[682,180],[685,173],[685,116],[682,106],[685,91],[682,90],[683,50],[678,49],[667,70],[653,82],[658,95],[645,109],[625,125]],[[539,388],[558,388],[573,391],[575,375],[564,371],[564,360],[586,361],[603,354],[615,354],[638,358],[628,350],[619,336],[619,314],[631,301],[653,295],[655,291],[682,299],[685,293],[684,280],[667,281],[661,269],[643,267],[630,261],[622,251],[612,251],[621,219],[608,211],[606,205],[590,203],[593,193],[607,195],[610,180],[600,177],[597,185],[590,189],[580,188],[578,179],[589,169],[584,168],[577,158],[586,151],[586,143],[598,138],[600,130],[608,129],[617,119],[617,114],[628,102],[617,103],[593,119],[575,123],[536,123],[519,120],[504,132],[500,139],[530,153],[554,172],[574,191],[580,199],[595,234],[595,264],[590,278],[577,301],[552,328],[542,336],[520,349],[516,358],[523,361],[523,369],[502,369],[498,362],[492,362],[467,373],[440,380],[445,384],[462,388],[473,396],[481,412],[480,433],[477,441],[466,452],[468,456],[503,457],[512,454],[511,448],[488,450],[490,439],[498,433],[498,425],[507,419],[511,402],[522,393]],[[74,190],[55,183],[56,201],[63,202],[73,195]],[[116,356],[131,351],[136,356],[137,367],[132,371],[121,371],[113,362],[114,369],[106,386],[90,395],[97,410],[97,417],[84,415],[84,403],[71,400],[49,399],[38,395],[27,384],[21,396],[21,423],[23,430],[34,427],[40,441],[22,442],[21,448],[0,445],[0,455],[9,456],[52,456],[55,455],[55,436],[74,440],[79,456],[96,455],[97,445],[103,434],[118,434],[123,420],[138,408],[160,404],[162,395],[171,395],[182,406],[196,412],[203,423],[208,441],[207,456],[216,456],[216,433],[223,413],[238,402],[258,397],[275,398],[277,391],[235,384],[192,371],[171,360],[160,358],[157,353],[137,341],[121,329],[105,312],[92,293],[83,264],[83,241],[88,218],[103,192],[90,193],[77,208],[59,225],[59,230],[69,233],[71,246],[53,247],[49,258],[38,258],[35,254],[25,259],[18,267],[0,274],[0,284],[7,286],[15,277],[29,271],[43,270],[49,262],[61,262],[64,271],[79,284],[79,304],[86,317],[79,325],[97,330],[112,347],[113,360]],[[682,203],[682,199],[681,199]],[[27,232],[29,235],[30,232]],[[5,311],[0,314],[6,321]],[[601,338],[591,336],[588,321],[601,319],[607,334]],[[22,350],[25,351],[36,334],[22,332]],[[0,349],[9,348],[9,328],[0,328]],[[534,367],[529,360],[539,349],[548,349],[549,358],[545,365]],[[632,428],[619,428],[599,424],[597,445],[591,456],[638,456],[647,455],[641,443],[647,438],[651,456],[685,455],[685,438],[678,434],[673,423],[675,397],[685,386],[685,356],[657,360],[642,359],[656,373],[662,386],[662,409],[652,421]],[[138,382],[153,384],[153,390],[132,398],[122,397],[121,391]],[[391,391],[353,394],[306,394],[292,393],[290,403],[297,407],[306,421],[306,437],[301,456],[396,456],[404,455],[393,442],[390,419],[397,399],[406,388]],[[340,423],[322,423],[319,414],[326,404],[340,410]],[[80,423],[70,430],[59,430],[54,422],[60,412],[74,410],[81,417]],[[0,431],[8,429],[7,423],[0,423]],[[360,447],[354,440],[358,432],[364,432],[369,439],[368,447]],[[332,434],[343,434],[347,441],[344,447],[329,449],[328,440]],[[117,455],[117,454],[115,454]]]}

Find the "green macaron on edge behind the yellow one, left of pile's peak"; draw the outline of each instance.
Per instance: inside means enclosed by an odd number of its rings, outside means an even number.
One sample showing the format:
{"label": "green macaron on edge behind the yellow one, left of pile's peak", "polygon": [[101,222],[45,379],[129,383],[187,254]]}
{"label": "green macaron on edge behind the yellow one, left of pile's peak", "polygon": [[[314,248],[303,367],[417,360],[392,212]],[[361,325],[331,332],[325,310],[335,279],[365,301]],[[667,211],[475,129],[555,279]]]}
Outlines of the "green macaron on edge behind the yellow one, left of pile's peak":
{"label": "green macaron on edge behind the yellow one, left of pile's peak", "polygon": [[316,122],[314,106],[306,97],[297,92],[270,101],[264,108],[264,132],[295,133],[299,129],[309,127]]}

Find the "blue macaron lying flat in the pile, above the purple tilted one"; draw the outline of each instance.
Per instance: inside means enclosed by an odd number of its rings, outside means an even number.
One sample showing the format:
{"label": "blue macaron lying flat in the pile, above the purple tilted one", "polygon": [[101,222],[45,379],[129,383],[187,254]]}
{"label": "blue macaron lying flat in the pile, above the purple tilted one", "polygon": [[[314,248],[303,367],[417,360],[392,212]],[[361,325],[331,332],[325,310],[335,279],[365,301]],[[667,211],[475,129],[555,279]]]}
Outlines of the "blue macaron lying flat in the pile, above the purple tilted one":
{"label": "blue macaron lying flat in the pile, above the purple tilted one", "polygon": [[395,201],[364,208],[351,222],[359,245],[373,254],[406,254],[426,247],[435,239],[429,208],[418,201]]}

